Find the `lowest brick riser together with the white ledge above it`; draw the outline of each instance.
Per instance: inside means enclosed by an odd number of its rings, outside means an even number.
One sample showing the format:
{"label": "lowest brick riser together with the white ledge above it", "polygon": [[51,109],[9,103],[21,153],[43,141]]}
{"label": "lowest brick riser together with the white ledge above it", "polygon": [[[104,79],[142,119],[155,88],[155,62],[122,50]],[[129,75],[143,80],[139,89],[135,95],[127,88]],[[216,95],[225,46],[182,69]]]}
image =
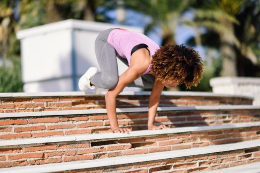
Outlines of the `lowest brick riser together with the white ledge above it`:
{"label": "lowest brick riser together with the white ledge above it", "polygon": [[[0,173],[184,173],[260,161],[260,139],[199,148],[0,169]],[[20,164],[24,164],[20,162]]]}

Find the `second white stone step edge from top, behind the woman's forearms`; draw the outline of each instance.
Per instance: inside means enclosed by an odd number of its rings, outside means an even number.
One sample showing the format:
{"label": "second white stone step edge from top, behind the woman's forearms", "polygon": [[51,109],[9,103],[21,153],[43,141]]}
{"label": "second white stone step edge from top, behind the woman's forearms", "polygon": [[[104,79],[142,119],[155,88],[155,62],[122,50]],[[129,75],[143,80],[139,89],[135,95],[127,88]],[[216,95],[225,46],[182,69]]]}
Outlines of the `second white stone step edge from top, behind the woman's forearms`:
{"label": "second white stone step edge from top, behind the woman's forearms", "polygon": [[[260,109],[260,106],[215,105],[215,106],[158,107],[157,111],[241,110],[241,109]],[[147,107],[143,107],[143,108],[117,108],[116,111],[117,111],[117,113],[148,112],[148,108]],[[107,113],[106,109],[14,112],[14,113],[0,113],[0,118],[37,117],[37,116],[54,116],[54,115],[106,114],[106,113]]]}

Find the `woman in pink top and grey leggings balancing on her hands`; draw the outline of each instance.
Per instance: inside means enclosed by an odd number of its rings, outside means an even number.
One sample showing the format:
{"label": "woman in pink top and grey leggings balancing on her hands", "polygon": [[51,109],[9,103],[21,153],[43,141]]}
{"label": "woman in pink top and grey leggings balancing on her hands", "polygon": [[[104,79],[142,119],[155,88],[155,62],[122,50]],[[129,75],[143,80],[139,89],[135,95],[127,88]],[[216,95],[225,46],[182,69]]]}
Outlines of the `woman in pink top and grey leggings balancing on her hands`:
{"label": "woman in pink top and grey leggings balancing on her hands", "polygon": [[[168,129],[154,125],[154,118],[164,87],[185,84],[196,86],[202,78],[203,64],[198,53],[185,45],[158,44],[141,33],[112,28],[99,34],[95,52],[100,72],[91,67],[80,78],[80,90],[108,89],[106,109],[112,132],[129,132],[120,128],[116,116],[116,97],[125,87],[152,88],[149,98],[148,130]],[[129,68],[118,75],[117,57]]]}

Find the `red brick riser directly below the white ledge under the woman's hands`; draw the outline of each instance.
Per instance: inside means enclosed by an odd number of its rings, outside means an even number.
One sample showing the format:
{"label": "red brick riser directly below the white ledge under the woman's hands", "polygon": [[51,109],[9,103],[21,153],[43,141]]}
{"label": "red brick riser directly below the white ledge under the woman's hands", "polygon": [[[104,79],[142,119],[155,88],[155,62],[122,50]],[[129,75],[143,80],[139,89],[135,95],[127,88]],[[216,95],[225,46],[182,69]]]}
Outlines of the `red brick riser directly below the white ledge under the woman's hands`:
{"label": "red brick riser directly below the white ledge under the woman's hands", "polygon": [[[194,131],[181,134],[150,135],[145,137],[130,137],[127,139],[105,139],[105,141],[49,143],[46,141],[45,144],[13,145],[7,148],[0,147],[0,168],[173,151],[254,139],[260,139],[260,126],[202,132]],[[260,152],[257,153],[255,156],[260,156]],[[247,154],[245,157],[253,157],[253,155]],[[236,161],[238,160],[240,159],[237,158]],[[185,168],[185,164],[187,163],[181,164],[183,165],[182,168]],[[201,161],[199,164],[200,166],[202,164],[206,165],[205,161]]]}

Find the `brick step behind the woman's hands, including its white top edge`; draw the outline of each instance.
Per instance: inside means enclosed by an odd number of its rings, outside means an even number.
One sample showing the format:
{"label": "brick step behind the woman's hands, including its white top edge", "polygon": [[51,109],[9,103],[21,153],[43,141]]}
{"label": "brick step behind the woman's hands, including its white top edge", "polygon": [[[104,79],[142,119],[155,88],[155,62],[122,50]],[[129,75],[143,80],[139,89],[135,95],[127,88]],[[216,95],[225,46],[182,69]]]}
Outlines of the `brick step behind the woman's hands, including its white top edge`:
{"label": "brick step behind the woman's hands, including its white top edge", "polygon": [[[118,108],[120,127],[147,130],[148,108]],[[260,121],[250,105],[158,107],[155,124],[171,128]],[[106,109],[2,113],[0,140],[110,132]]]}

